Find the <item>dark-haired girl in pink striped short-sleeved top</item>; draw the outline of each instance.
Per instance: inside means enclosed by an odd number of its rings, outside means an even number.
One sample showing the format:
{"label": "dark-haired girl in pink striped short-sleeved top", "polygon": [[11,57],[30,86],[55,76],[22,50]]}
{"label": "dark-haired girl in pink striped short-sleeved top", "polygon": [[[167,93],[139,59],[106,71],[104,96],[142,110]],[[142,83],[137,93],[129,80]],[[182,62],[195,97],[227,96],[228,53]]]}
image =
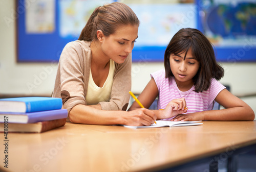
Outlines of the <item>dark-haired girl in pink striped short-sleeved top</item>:
{"label": "dark-haired girl in pink striped short-sleeved top", "polygon": [[[158,96],[157,119],[171,120],[253,120],[253,110],[218,82],[223,68],[214,49],[197,29],[181,29],[170,40],[164,54],[165,70],[152,79],[138,100],[149,108]],[[218,102],[223,110],[212,110]],[[129,110],[139,108],[134,102]]]}

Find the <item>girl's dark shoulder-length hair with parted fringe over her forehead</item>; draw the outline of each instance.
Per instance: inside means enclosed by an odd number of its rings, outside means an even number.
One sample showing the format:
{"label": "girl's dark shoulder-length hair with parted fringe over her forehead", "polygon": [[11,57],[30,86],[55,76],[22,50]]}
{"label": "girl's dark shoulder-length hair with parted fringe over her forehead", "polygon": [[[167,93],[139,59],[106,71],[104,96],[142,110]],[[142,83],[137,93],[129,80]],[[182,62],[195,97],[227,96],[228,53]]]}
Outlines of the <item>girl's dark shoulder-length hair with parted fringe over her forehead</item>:
{"label": "girl's dark shoulder-length hair with parted fringe over her forehead", "polygon": [[194,91],[202,92],[209,88],[212,78],[220,80],[224,76],[224,69],[216,61],[213,45],[197,29],[181,29],[170,40],[164,53],[165,78],[174,76],[170,70],[170,55],[185,52],[185,59],[189,48],[192,56],[200,63],[198,72],[193,78]]}

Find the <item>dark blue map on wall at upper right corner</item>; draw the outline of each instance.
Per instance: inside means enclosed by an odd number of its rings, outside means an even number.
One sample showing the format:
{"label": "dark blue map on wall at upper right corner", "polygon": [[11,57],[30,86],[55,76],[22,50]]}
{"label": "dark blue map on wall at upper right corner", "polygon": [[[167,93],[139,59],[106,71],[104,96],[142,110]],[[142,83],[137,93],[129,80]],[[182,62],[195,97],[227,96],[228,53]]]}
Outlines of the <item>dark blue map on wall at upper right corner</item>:
{"label": "dark blue map on wall at upper right corner", "polygon": [[[256,1],[201,1],[204,34],[216,47],[256,46]],[[217,22],[214,22],[217,21]]]}

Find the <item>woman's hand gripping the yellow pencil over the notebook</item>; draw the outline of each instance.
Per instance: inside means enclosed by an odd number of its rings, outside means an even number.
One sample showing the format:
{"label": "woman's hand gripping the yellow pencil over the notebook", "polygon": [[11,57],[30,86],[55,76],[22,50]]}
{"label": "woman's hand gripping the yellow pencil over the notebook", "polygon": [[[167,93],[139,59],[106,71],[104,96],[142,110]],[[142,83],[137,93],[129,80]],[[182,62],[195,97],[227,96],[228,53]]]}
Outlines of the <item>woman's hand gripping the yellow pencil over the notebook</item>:
{"label": "woman's hand gripping the yellow pencil over the notebook", "polygon": [[124,125],[127,126],[150,126],[154,124],[157,116],[151,110],[139,108],[128,112],[128,115],[123,116]]}

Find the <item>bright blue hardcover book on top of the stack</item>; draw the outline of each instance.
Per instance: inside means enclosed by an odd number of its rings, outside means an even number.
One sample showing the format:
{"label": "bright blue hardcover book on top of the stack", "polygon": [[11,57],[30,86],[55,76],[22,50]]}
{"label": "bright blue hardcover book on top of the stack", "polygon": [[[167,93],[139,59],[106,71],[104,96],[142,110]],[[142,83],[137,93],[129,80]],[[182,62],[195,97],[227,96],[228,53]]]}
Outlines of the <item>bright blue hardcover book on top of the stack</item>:
{"label": "bright blue hardcover book on top of the stack", "polygon": [[38,112],[61,109],[62,100],[55,97],[15,97],[0,99],[0,112]]}

